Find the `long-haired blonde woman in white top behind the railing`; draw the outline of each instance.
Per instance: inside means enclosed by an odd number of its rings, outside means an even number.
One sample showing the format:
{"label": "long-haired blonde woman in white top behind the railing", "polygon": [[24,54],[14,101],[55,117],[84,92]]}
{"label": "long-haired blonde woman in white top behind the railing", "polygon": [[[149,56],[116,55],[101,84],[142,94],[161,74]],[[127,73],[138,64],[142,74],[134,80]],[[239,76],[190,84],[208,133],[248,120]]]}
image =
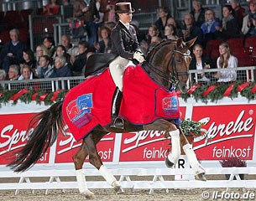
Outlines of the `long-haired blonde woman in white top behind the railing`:
{"label": "long-haired blonde woman in white top behind the railing", "polygon": [[[220,56],[217,58],[217,68],[237,68],[238,59],[230,54],[229,46],[226,42],[219,45]],[[217,72],[215,75],[217,82],[232,82],[237,80],[237,72],[235,70],[227,70]]]}

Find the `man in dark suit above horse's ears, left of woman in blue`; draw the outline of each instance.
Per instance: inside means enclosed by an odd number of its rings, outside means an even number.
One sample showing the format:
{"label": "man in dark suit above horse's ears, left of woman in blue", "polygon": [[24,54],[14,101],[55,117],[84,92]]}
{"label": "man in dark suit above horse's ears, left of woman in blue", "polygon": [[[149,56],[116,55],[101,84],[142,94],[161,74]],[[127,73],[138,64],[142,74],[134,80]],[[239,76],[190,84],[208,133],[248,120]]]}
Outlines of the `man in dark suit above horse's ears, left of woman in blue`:
{"label": "man in dark suit above horse's ears, left of woman in blue", "polygon": [[197,37],[196,44],[203,44],[203,33],[201,28],[197,27],[194,23],[194,18],[191,13],[185,14],[182,33],[185,42]]}

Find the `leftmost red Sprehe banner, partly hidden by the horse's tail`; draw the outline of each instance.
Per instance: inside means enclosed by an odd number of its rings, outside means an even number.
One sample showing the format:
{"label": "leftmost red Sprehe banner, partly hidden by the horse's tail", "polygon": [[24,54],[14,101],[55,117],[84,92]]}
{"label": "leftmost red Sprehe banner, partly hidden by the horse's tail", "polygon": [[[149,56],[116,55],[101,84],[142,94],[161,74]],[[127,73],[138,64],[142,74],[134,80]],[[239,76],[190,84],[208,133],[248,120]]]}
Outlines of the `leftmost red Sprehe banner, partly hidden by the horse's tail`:
{"label": "leftmost red Sprehe banner, partly hidden by the horse's tail", "polygon": [[[34,113],[0,115],[0,165],[6,165],[11,161],[14,152],[24,147],[29,139],[27,128],[30,117]],[[49,150],[45,152],[38,163],[49,162]]]}

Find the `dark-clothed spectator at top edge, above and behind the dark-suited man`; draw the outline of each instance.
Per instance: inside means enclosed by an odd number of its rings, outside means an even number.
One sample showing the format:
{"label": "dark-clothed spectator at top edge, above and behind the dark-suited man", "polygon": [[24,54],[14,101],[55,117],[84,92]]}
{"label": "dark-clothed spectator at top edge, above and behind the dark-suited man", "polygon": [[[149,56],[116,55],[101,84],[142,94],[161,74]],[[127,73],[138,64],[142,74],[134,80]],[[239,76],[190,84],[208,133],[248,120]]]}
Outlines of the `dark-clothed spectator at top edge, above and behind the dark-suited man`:
{"label": "dark-clothed spectator at top edge, above and behind the dark-suited man", "polygon": [[201,28],[201,24],[205,22],[205,8],[202,8],[201,0],[193,0],[192,6],[191,15],[195,20],[195,25]]}

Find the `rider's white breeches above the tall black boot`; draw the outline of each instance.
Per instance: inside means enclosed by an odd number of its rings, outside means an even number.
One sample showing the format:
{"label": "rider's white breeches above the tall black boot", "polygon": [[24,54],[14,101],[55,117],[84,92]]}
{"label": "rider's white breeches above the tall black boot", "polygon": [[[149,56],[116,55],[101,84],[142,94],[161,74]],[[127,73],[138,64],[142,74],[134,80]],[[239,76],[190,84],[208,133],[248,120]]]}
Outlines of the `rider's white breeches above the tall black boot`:
{"label": "rider's white breeches above the tall black boot", "polygon": [[112,76],[112,80],[121,91],[123,91],[123,72],[126,69],[129,62],[129,59],[125,59],[121,56],[118,56],[109,64],[109,70]]}

